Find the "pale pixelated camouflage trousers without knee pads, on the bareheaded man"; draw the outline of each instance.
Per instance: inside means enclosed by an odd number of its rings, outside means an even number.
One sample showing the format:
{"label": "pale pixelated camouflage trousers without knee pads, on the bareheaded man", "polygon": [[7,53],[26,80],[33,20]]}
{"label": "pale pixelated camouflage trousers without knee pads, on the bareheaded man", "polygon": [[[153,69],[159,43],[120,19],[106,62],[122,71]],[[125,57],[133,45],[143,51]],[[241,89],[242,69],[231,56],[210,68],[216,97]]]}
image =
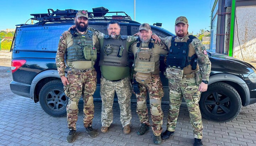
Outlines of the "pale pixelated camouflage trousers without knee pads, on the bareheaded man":
{"label": "pale pixelated camouflage trousers without knee pads, on the bareheaded man", "polygon": [[109,127],[113,122],[113,101],[115,92],[120,107],[120,121],[122,126],[130,124],[132,119],[130,97],[132,96],[130,77],[120,81],[108,81],[101,77],[100,96],[102,100],[101,123]]}

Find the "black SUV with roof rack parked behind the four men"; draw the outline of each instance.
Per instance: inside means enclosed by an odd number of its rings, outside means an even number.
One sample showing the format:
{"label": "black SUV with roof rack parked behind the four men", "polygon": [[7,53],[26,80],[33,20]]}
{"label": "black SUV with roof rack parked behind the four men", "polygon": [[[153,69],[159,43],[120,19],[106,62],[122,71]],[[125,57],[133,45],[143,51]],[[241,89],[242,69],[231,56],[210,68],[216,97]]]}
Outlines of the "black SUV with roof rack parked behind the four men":
{"label": "black SUV with roof rack parked behind the four men", "polygon": [[[105,9],[102,9],[105,10]],[[11,91],[17,95],[29,97],[40,102],[43,110],[54,117],[66,115],[68,98],[63,92],[63,84],[55,64],[60,35],[74,24],[77,10],[48,9],[48,13],[31,14],[31,20],[38,22],[32,25],[17,25],[12,42],[11,69],[13,81]],[[88,12],[89,26],[107,34],[107,22],[120,22],[121,35],[132,35],[138,32],[140,23],[132,21],[125,12]],[[110,16],[105,16],[105,15]],[[120,15],[121,14],[121,15]],[[174,36],[173,33],[151,26],[158,36]],[[199,102],[204,118],[213,121],[229,121],[240,112],[241,106],[256,102],[256,70],[244,61],[223,54],[208,52],[212,69],[208,90],[203,92]],[[168,81],[164,71],[164,56],[160,58],[160,77],[165,95],[162,104],[169,103]],[[94,101],[101,101],[100,77],[98,64],[97,90]],[[133,95],[132,101],[136,98]]]}

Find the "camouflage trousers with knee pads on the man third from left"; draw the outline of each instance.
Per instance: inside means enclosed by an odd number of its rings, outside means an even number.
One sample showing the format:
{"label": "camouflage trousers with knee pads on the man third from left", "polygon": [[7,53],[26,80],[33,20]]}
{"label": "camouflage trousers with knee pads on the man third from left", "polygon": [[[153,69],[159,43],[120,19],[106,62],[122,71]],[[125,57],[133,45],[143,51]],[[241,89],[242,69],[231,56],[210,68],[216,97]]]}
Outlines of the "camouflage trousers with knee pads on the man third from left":
{"label": "camouflage trousers with knee pads on the man third from left", "polygon": [[136,94],[137,114],[140,123],[149,124],[148,108],[146,106],[147,90],[149,92],[150,113],[152,119],[152,130],[154,135],[159,136],[162,132],[162,119],[164,114],[161,109],[161,100],[164,96],[162,82],[159,75],[151,75],[151,83],[139,83],[140,93]]}

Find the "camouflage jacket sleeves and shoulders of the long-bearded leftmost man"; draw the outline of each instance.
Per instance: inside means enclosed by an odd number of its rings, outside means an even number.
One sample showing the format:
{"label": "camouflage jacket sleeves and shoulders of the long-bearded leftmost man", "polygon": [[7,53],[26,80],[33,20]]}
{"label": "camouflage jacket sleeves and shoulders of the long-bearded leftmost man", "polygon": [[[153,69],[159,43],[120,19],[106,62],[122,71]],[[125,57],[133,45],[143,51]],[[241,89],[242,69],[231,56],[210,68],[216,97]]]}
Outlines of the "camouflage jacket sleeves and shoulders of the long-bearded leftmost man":
{"label": "camouflage jacket sleeves and shoulders of the long-bearded leftmost man", "polygon": [[[94,33],[94,29],[92,29],[91,27],[88,27],[88,30],[90,30],[90,31],[92,31],[92,33]],[[76,32],[76,33],[78,33],[78,32]],[[87,33],[87,31],[86,31],[86,33]],[[56,66],[57,66],[60,76],[65,76],[65,68],[66,68],[65,53],[66,53],[66,48],[73,45],[73,39],[71,39],[71,37],[72,37],[72,34],[70,33],[70,31],[65,31],[60,36],[57,54],[56,54]],[[98,38],[95,33],[92,36],[92,42],[94,44],[94,47],[97,49],[97,52],[99,52],[100,51],[100,43],[99,43]]]}

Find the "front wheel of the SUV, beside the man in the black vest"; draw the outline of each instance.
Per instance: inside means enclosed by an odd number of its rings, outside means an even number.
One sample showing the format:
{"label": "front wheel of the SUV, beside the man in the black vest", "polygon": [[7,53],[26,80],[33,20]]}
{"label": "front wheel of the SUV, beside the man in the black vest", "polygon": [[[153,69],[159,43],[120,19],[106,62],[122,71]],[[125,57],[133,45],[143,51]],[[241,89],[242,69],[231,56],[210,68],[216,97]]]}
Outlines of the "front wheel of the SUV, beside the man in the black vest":
{"label": "front wheel of the SUV, beside the man in the black vest", "polygon": [[241,110],[241,98],[229,84],[215,82],[202,92],[199,101],[201,114],[204,118],[217,122],[234,119]]}

